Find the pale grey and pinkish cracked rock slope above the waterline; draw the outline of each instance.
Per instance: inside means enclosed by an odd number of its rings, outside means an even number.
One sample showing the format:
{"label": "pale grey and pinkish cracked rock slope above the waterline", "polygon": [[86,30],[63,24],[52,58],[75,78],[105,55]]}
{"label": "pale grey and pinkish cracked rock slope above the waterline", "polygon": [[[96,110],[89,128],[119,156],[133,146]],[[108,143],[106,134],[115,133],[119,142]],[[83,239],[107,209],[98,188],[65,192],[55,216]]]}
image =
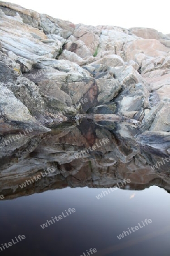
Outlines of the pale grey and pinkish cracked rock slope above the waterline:
{"label": "pale grey and pinkish cracked rock slope above the waterline", "polygon": [[0,18],[1,132],[31,123],[45,131],[41,124],[102,106],[140,121],[138,135],[169,133],[169,35],[73,24],[6,2]]}

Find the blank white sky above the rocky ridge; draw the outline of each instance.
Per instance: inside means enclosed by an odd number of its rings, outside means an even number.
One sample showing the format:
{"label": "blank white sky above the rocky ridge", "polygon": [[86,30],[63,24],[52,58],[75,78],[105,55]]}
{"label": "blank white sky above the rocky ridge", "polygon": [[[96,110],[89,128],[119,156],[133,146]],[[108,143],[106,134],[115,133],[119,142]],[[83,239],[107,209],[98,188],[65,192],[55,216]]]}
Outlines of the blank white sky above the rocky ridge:
{"label": "blank white sky above the rocky ridge", "polygon": [[150,27],[170,34],[168,0],[7,0],[78,24]]}

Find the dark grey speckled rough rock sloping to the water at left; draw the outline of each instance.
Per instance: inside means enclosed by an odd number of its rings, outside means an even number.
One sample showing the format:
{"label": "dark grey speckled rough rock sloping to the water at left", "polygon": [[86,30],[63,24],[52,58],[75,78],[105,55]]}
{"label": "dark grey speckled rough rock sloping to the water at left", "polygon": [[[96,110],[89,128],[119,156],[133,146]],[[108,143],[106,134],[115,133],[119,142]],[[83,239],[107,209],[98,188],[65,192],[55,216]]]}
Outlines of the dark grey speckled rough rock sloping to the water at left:
{"label": "dark grey speckled rough rock sloping to the water at left", "polygon": [[[0,78],[3,85],[2,89],[6,87],[8,90],[10,90],[11,93],[14,93],[20,104],[24,104],[25,109],[27,109],[27,111],[29,110],[30,117],[32,115],[39,121],[42,121],[46,118],[59,118],[59,114],[56,112],[56,109],[53,109],[50,104],[48,104],[48,102],[46,103],[44,101],[44,96],[40,94],[40,90],[37,85],[35,85],[27,78],[20,76],[18,72],[15,71],[15,68],[13,70],[1,61],[0,67]],[[10,102],[10,100],[8,101]],[[59,108],[57,110],[59,110]],[[18,114],[23,116],[22,109],[20,110],[17,108],[15,110],[14,108],[13,111],[14,113],[18,112]],[[25,121],[23,118],[23,123],[24,122]]]}

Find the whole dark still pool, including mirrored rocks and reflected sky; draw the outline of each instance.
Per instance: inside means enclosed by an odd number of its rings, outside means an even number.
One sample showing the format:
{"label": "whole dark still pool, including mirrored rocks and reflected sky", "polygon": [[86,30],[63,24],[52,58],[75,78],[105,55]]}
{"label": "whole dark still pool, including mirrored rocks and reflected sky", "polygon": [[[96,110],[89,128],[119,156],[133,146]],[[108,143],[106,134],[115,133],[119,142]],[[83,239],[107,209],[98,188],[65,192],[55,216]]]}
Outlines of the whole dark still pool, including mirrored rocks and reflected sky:
{"label": "whole dark still pool, including mirrored rocks and reflected sky", "polygon": [[[107,129],[95,123],[71,124],[44,135],[32,134],[3,148],[1,255],[169,256],[169,164],[153,170],[152,165],[163,155],[143,150],[135,141],[133,129],[130,132],[131,137],[128,130],[122,137],[122,130],[115,133],[111,125]],[[102,138],[110,143],[74,158],[75,152]],[[19,187],[48,167],[55,172]],[[130,179],[130,183],[113,191],[124,179]],[[99,194],[103,197],[97,199]],[[70,214],[69,208],[75,211]],[[62,213],[65,217],[41,228]],[[151,223],[144,226],[146,219]],[[142,228],[117,238],[139,224]],[[25,239],[16,242],[19,235]],[[12,240],[16,243],[6,248],[5,243]],[[90,249],[97,251],[91,254]]]}

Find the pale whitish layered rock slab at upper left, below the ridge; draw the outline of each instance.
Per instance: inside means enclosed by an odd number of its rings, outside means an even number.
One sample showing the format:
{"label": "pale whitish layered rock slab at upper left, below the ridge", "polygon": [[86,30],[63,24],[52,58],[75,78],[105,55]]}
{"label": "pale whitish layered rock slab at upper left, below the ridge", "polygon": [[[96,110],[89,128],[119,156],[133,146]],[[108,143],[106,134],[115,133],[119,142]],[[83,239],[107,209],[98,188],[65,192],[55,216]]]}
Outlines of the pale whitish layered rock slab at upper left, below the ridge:
{"label": "pale whitish layered rock slab at upper left, below the ridge", "polygon": [[[57,43],[46,48],[45,43],[42,43],[41,40],[48,39],[47,36],[39,29],[28,26],[15,17],[2,15],[0,27],[6,28],[6,36],[3,36],[4,31],[0,29],[2,47],[25,59],[37,60],[39,56],[55,58],[61,49]],[[19,31],[17,27],[20,28]]]}

